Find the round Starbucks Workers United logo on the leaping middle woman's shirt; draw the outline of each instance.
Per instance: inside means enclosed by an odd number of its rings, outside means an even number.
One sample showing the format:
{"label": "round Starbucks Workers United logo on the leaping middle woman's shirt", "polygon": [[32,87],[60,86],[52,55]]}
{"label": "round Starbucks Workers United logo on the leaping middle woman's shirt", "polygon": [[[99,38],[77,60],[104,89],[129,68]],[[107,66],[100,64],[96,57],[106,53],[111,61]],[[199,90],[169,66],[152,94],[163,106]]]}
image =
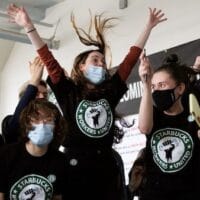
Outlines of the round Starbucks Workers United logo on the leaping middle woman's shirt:
{"label": "round Starbucks Workers United logo on the leaping middle woman's shirt", "polygon": [[76,111],[76,122],[80,130],[89,137],[100,138],[106,135],[113,122],[110,105],[106,99],[83,100]]}

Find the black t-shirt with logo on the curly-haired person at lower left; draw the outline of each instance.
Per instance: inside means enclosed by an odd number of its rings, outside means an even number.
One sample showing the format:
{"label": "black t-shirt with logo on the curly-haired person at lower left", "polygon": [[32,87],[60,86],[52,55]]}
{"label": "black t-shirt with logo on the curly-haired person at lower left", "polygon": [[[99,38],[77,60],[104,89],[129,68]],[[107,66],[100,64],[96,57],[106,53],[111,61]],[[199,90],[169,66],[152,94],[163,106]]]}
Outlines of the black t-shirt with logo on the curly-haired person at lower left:
{"label": "black t-shirt with logo on the curly-haired person at lower left", "polygon": [[53,149],[41,157],[30,155],[24,143],[0,151],[0,192],[5,199],[48,199],[63,193],[66,159]]}

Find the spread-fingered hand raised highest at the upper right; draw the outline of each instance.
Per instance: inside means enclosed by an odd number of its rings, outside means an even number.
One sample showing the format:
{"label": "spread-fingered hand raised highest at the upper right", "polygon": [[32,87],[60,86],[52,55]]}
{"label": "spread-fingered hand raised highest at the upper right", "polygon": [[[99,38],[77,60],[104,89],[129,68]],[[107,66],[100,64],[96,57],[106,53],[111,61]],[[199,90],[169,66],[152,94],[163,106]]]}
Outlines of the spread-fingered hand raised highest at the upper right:
{"label": "spread-fingered hand raised highest at the upper right", "polygon": [[165,14],[162,10],[157,10],[156,8],[149,8],[149,19],[148,19],[148,26],[153,28],[157,24],[166,21],[167,18],[164,17]]}

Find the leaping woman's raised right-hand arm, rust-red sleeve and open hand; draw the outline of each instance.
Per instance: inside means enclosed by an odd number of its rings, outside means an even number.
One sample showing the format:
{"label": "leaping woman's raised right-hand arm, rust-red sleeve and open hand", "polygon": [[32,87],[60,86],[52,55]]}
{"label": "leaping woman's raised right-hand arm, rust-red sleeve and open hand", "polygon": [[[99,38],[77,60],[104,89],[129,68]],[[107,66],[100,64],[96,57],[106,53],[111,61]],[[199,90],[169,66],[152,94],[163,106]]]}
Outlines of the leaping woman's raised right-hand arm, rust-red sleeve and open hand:
{"label": "leaping woman's raised right-hand arm, rust-red sleeve and open hand", "polygon": [[118,73],[122,80],[126,81],[129,74],[131,73],[131,70],[138,61],[140,53],[144,48],[152,29],[157,24],[166,20],[167,18],[164,18],[164,13],[161,10],[157,10],[156,8],[149,8],[149,17],[147,24],[145,25],[143,31],[140,33],[134,46],[131,47],[128,55],[119,66]]}

